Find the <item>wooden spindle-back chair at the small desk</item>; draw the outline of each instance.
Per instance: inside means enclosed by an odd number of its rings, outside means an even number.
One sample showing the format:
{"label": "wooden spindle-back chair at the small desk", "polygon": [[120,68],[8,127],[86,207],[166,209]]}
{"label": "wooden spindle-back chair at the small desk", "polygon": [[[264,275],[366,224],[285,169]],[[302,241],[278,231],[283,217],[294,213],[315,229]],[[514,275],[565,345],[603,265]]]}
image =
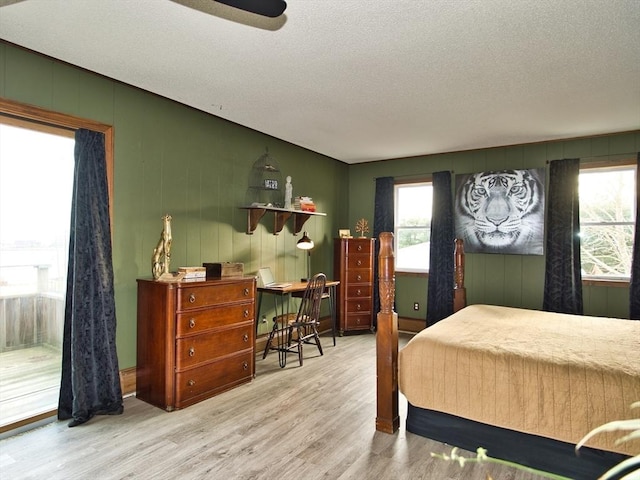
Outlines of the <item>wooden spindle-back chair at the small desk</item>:
{"label": "wooden spindle-back chair at the small desk", "polygon": [[287,354],[297,353],[298,361],[302,366],[302,350],[305,344],[315,345],[320,355],[323,355],[318,323],[326,281],[327,277],[324,273],[314,275],[307,283],[298,313],[279,315],[273,319],[273,328],[267,339],[263,359],[267,357],[269,351],[277,350],[280,367],[284,368],[287,364]]}

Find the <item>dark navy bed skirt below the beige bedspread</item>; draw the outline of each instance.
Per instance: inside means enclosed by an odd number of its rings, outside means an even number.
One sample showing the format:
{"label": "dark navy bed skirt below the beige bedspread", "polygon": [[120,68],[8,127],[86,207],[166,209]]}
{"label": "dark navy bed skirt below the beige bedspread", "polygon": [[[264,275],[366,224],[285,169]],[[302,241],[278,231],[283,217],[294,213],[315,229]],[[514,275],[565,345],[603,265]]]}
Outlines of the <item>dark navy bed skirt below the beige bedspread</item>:
{"label": "dark navy bed skirt below the beige bedspread", "polygon": [[[483,447],[491,457],[576,480],[594,480],[628,458],[588,447],[582,447],[580,455],[576,456],[575,445],[570,443],[415,407],[411,403],[408,404],[406,427],[408,432],[451,446],[471,452]],[[433,453],[448,454],[449,451]]]}

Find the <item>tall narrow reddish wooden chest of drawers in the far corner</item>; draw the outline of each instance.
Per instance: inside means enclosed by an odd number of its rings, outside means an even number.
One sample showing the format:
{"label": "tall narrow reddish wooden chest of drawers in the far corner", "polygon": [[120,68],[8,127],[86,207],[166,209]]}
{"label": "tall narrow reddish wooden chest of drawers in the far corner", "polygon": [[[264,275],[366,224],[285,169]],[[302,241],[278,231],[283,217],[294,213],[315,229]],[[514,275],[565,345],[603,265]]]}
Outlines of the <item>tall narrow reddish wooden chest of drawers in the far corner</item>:
{"label": "tall narrow reddish wooden chest of drawers in the far corner", "polygon": [[333,275],[339,276],[339,332],[373,326],[373,238],[336,238]]}

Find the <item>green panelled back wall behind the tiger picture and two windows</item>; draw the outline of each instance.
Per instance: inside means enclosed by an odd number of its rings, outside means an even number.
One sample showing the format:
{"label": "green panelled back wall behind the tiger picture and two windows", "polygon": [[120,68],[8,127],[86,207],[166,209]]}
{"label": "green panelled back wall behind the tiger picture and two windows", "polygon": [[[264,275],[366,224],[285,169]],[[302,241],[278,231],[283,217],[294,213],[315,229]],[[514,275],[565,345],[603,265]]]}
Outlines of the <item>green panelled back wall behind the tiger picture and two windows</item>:
{"label": "green panelled back wall behind the tiger picture and two windows", "polygon": [[[377,177],[410,178],[441,170],[463,174],[507,168],[546,168],[547,162],[551,160],[633,159],[638,151],[640,131],[634,131],[352,165],[349,176],[351,201],[348,225],[353,230],[357,219],[362,217],[369,219],[373,225]],[[425,318],[427,285],[428,279],[425,277],[397,275],[396,304],[400,317]],[[465,285],[469,303],[541,309],[544,256],[467,254]],[[629,316],[628,283],[615,286],[584,285],[583,295],[585,313],[588,315]],[[419,312],[414,312],[412,308],[416,301],[421,305]]]}

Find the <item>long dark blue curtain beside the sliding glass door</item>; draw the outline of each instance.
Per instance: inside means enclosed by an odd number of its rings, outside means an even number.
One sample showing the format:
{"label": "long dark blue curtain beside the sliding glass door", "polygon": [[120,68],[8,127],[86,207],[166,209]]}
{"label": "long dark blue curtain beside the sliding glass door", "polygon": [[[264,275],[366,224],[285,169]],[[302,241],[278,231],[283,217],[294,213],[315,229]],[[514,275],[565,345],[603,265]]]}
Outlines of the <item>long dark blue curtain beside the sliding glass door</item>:
{"label": "long dark blue curtain beside the sliding glass door", "polygon": [[104,135],[76,132],[58,418],[70,427],[123,411],[116,355]]}

